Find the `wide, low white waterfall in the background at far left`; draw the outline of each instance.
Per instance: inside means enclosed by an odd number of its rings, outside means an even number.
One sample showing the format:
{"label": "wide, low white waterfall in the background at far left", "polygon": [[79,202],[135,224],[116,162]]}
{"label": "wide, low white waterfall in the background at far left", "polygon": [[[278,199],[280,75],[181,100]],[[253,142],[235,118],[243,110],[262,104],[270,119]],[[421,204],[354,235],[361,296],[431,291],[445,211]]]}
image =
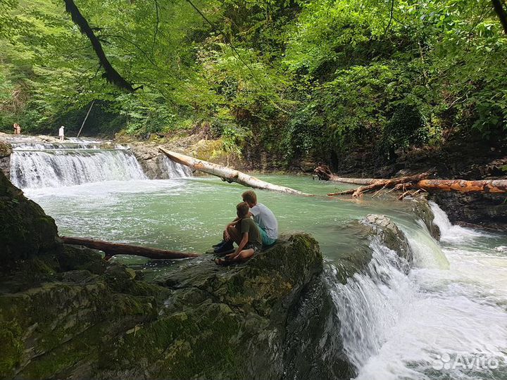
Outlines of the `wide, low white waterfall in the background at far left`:
{"label": "wide, low white waterfall in the background at far left", "polygon": [[100,141],[39,141],[13,144],[11,181],[22,189],[87,182],[146,179],[135,156],[123,146],[100,149]]}

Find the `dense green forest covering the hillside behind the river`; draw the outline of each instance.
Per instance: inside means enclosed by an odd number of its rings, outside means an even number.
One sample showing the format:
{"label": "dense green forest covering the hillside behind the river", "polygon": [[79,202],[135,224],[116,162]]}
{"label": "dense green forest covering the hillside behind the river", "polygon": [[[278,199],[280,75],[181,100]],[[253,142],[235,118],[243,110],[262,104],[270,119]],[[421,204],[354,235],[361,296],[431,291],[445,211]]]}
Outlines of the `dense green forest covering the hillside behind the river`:
{"label": "dense green forest covering the hillside behind the river", "polygon": [[[73,22],[75,4],[111,67]],[[495,8],[496,7],[496,8]],[[68,8],[68,7],[67,7]],[[0,130],[158,139],[330,162],[507,129],[503,1],[0,0]],[[502,13],[503,12],[503,13]],[[505,26],[507,28],[507,25]]]}

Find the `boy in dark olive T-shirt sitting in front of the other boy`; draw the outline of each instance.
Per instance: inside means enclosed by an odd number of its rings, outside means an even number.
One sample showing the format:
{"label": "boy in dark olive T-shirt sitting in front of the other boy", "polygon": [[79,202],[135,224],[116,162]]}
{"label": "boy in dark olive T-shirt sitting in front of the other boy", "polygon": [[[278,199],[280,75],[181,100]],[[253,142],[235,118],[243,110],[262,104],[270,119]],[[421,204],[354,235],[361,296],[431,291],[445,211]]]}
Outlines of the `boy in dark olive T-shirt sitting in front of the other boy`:
{"label": "boy in dark olive T-shirt sitting in front of the other boy", "polygon": [[218,265],[231,264],[233,262],[243,262],[251,258],[255,253],[261,252],[262,238],[261,232],[256,222],[249,217],[249,205],[246,202],[239,203],[236,206],[237,224],[241,232],[242,239],[238,242],[238,248],[233,253],[226,255],[224,259],[216,259]]}

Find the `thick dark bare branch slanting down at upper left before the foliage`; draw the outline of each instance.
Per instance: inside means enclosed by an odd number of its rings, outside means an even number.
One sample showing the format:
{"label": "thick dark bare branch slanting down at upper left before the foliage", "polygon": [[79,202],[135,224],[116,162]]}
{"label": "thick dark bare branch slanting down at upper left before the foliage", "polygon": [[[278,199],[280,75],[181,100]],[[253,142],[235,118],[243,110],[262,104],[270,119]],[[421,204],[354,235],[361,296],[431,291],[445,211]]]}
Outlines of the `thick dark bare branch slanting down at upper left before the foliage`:
{"label": "thick dark bare branch slanting down at upper left before the foliage", "polygon": [[100,40],[94,34],[92,28],[89,26],[86,18],[83,17],[80,10],[77,8],[73,0],[63,0],[65,2],[65,10],[70,13],[70,17],[73,22],[80,28],[83,34],[86,34],[90,42],[92,42],[93,49],[96,53],[96,56],[99,58],[99,62],[104,68],[104,77],[106,80],[116,87],[120,89],[125,89],[127,91],[133,92],[134,88],[132,84],[127,82],[124,77],[122,77],[118,71],[113,68],[113,65],[108,61],[106,57],[106,53],[104,53],[104,49],[102,49],[102,45]]}

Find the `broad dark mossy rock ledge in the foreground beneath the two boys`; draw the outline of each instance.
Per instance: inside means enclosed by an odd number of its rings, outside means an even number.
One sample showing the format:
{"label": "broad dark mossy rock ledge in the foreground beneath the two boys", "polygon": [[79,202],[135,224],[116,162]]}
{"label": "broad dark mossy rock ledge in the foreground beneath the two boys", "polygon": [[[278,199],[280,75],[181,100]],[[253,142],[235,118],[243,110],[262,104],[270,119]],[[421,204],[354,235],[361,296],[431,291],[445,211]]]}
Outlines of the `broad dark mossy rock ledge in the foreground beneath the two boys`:
{"label": "broad dark mossy rock ledge in the foreground beneath the two boys", "polygon": [[282,379],[289,310],[323,268],[306,234],[242,265],[187,260],[158,284],[86,249],[56,259],[51,280],[0,291],[0,378]]}

